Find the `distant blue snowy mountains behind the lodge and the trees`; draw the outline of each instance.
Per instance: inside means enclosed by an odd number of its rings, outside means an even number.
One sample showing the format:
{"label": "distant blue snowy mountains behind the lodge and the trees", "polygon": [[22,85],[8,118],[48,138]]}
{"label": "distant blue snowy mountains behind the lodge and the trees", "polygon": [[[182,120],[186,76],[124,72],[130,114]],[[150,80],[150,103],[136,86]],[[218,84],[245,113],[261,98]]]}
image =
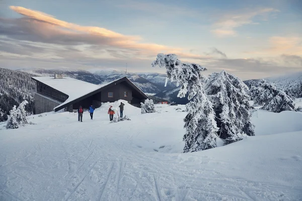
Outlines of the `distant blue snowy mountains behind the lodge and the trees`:
{"label": "distant blue snowy mountains behind the lodge and the trees", "polygon": [[[49,76],[53,75],[54,73],[61,73],[65,76],[70,76],[94,84],[111,82],[126,75],[126,72],[123,70],[111,68],[95,69],[91,71],[75,70],[68,68],[63,68],[59,70],[39,68],[19,70],[36,74],[38,76]],[[168,81],[167,86],[165,86],[167,78],[166,74],[156,72],[127,72],[127,77],[148,95],[154,95],[159,98],[168,100],[169,102],[175,102],[178,104],[187,104],[189,102],[187,96],[184,98],[177,97],[179,87],[177,87],[175,83]],[[279,77],[268,77],[265,79],[270,82],[273,82],[278,88],[286,91],[294,97],[300,97],[302,95],[302,72]],[[250,81],[251,80],[246,80],[244,82],[249,85]]]}

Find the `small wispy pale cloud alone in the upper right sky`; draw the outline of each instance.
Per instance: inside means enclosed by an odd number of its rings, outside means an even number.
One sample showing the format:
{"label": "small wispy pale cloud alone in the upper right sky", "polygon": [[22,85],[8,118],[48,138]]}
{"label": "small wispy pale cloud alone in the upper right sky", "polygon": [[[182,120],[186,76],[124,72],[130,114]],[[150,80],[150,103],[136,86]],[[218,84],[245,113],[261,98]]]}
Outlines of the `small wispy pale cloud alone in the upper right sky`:
{"label": "small wispy pale cloud alone in the upper right sky", "polygon": [[221,19],[212,25],[211,32],[218,37],[230,37],[237,36],[236,28],[248,25],[259,24],[253,22],[256,16],[261,16],[263,20],[266,20],[267,16],[271,13],[279,12],[273,8],[258,9],[256,11],[245,12],[236,15],[225,15]]}

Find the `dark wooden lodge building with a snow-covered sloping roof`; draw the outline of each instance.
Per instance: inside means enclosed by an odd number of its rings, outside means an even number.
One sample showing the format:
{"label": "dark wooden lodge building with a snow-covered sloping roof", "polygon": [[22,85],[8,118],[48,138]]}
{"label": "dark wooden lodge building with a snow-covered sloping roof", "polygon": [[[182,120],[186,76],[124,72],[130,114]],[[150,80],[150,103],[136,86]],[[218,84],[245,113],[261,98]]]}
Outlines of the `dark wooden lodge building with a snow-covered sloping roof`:
{"label": "dark wooden lodge building with a snow-covered sloping roof", "polygon": [[101,107],[102,103],[127,100],[133,106],[139,107],[147,99],[134,83],[127,77],[112,82],[97,85],[71,77],[55,74],[54,77],[32,77],[37,83],[35,92],[36,114],[45,112],[72,112],[80,105],[88,109],[90,105]]}

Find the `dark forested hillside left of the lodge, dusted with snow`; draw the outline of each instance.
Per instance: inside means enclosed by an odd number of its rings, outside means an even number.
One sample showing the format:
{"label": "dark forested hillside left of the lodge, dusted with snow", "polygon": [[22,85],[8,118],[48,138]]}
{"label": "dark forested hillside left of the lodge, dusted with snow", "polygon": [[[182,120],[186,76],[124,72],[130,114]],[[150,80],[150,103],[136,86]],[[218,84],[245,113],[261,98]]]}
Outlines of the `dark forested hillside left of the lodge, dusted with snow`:
{"label": "dark forested hillside left of the lodge, dusted with snow", "polygon": [[0,68],[0,121],[6,121],[13,106],[18,107],[24,99],[28,101],[28,114],[35,113],[32,90],[36,88],[36,83],[31,76],[36,75]]}

